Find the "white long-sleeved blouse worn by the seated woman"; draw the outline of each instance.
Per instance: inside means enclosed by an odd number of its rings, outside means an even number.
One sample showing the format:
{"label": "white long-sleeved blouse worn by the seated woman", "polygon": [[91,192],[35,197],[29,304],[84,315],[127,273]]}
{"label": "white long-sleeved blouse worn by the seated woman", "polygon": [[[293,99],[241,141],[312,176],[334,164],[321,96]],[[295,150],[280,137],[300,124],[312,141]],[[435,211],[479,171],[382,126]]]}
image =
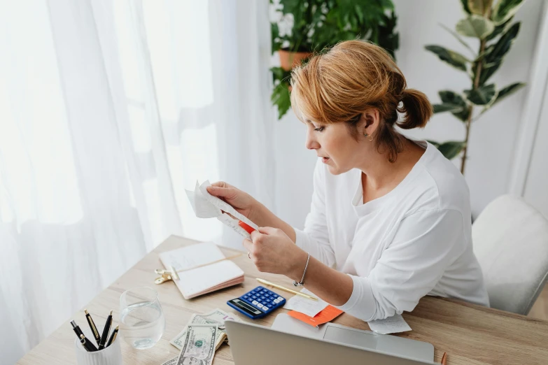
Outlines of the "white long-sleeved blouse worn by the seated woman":
{"label": "white long-sleeved blouse worn by the seated woman", "polygon": [[[296,244],[353,280],[339,307],[370,321],[411,311],[425,295],[489,306],[472,252],[468,185],[426,142],[419,162],[388,194],[363,203],[361,171],[338,176],[318,161],[314,194]],[[306,282],[306,279],[305,279]]]}

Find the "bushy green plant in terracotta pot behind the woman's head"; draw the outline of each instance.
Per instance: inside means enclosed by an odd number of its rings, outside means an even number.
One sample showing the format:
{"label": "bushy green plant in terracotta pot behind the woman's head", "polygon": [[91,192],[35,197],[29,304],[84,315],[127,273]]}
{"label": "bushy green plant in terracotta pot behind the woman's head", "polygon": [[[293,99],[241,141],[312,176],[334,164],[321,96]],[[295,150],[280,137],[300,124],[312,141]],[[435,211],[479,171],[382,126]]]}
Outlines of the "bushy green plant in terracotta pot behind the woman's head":
{"label": "bushy green plant in terracotta pot behind the woman's head", "polygon": [[270,1],[278,19],[271,22],[272,52],[279,52],[280,67],[271,69],[274,78],[272,103],[278,117],[291,106],[291,69],[315,51],[339,41],[367,39],[385,48],[392,57],[398,49],[396,16],[391,0],[279,0]]}

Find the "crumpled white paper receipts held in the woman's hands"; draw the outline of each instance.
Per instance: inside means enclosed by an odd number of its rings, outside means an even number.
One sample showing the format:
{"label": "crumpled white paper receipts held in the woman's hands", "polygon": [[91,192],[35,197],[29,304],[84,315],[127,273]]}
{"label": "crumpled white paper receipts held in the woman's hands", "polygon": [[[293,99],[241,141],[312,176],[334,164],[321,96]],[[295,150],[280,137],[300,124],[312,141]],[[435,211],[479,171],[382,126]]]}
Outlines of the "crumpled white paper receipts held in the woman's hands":
{"label": "crumpled white paper receipts held in the woman's hands", "polygon": [[[238,222],[241,220],[248,226],[253,227],[253,229],[259,228],[257,224],[238,213],[229,203],[209,194],[206,189],[208,186],[211,186],[211,184],[209,183],[209,180],[206,180],[202,185],[199,185],[199,183],[196,182],[196,187],[193,192],[185,189],[186,196],[188,196],[188,200],[190,201],[190,205],[192,206],[196,217],[217,218],[228,227],[234,229],[234,231],[237,231],[241,236],[250,238],[250,234],[248,234],[245,229],[241,228]],[[230,217],[227,213],[230,213],[237,219]]]}

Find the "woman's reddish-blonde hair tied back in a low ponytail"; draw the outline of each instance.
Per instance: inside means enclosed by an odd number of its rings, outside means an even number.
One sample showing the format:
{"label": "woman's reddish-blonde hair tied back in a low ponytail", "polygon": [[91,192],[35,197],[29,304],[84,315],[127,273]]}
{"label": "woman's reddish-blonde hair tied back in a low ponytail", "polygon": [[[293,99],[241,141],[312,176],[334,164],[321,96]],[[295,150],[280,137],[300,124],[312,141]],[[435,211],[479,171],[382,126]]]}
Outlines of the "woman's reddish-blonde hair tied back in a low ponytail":
{"label": "woman's reddish-blonde hair tied back in a low ponytail", "polygon": [[[424,127],[433,114],[425,94],[407,89],[388,52],[365,41],[344,41],[314,55],[293,69],[291,87],[291,104],[300,120],[303,113],[322,124],[346,122],[356,140],[361,114],[368,108],[379,110],[381,123],[374,140],[390,162],[402,152],[402,136],[394,124],[403,129]],[[397,112],[404,114],[400,122]]]}

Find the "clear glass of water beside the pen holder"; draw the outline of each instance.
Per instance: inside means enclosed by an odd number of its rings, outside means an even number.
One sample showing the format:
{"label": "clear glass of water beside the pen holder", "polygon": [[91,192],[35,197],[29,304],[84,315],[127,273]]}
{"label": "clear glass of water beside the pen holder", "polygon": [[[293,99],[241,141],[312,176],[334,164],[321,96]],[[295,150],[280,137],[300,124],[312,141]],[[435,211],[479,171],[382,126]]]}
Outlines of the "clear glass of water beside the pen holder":
{"label": "clear glass of water beside the pen holder", "polygon": [[120,296],[120,336],[133,348],[153,347],[164,334],[166,320],[158,294],[150,287],[135,287]]}

